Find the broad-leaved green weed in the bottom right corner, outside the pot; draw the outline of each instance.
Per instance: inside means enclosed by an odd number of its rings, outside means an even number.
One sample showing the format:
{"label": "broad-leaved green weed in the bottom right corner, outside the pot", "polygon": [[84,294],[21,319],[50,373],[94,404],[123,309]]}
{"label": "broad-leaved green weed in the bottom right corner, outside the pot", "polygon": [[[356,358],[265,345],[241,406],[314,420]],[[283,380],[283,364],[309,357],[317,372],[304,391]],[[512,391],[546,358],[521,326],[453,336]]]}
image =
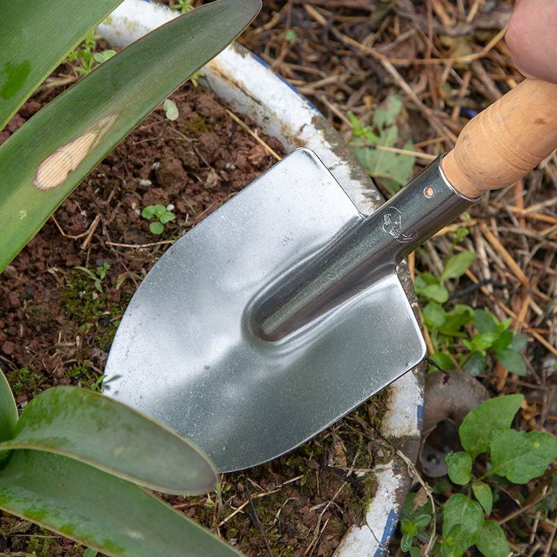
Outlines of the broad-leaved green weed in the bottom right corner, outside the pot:
{"label": "broad-leaved green weed in the bottom right corner, outside the pot", "polygon": [[[464,418],[459,429],[464,450],[450,453],[445,459],[452,483],[446,482],[443,491],[452,494],[437,510],[442,521],[441,538],[433,544],[433,557],[461,557],[474,545],[485,557],[510,554],[505,531],[499,522],[489,519],[497,501],[494,491],[508,493],[509,484],[525,485],[542,476],[557,458],[553,435],[510,427],[523,401],[522,395],[492,398]],[[487,465],[478,462],[480,455],[485,455]],[[401,549],[412,557],[420,555],[419,545],[429,541],[427,527],[436,514],[429,503],[415,502],[416,494],[410,494],[400,521]],[[541,506],[538,510],[544,512]]]}

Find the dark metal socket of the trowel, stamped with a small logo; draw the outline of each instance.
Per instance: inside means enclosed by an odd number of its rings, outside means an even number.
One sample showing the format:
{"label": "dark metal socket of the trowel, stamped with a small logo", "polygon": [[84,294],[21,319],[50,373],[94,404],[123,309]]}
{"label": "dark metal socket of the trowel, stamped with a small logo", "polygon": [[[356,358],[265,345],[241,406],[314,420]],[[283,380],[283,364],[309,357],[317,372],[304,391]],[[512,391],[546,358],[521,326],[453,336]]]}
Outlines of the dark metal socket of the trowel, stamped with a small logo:
{"label": "dark metal socket of the trowel, stamped with a small logo", "polygon": [[358,295],[480,198],[458,193],[437,157],[368,217],[361,215],[320,252],[277,277],[254,302],[251,325],[278,341]]}

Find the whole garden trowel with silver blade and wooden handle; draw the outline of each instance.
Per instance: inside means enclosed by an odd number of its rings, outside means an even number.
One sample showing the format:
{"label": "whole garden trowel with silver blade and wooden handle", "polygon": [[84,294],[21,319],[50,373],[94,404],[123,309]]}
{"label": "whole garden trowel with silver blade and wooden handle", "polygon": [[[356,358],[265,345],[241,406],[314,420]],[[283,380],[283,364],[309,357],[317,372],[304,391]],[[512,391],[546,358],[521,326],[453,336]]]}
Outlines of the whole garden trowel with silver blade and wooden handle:
{"label": "whole garden trowel with silver blade and wooden handle", "polygon": [[423,359],[398,263],[547,157],[556,111],[557,86],[526,80],[370,216],[295,150],[152,268],[104,393],[189,437],[221,471],[313,437]]}

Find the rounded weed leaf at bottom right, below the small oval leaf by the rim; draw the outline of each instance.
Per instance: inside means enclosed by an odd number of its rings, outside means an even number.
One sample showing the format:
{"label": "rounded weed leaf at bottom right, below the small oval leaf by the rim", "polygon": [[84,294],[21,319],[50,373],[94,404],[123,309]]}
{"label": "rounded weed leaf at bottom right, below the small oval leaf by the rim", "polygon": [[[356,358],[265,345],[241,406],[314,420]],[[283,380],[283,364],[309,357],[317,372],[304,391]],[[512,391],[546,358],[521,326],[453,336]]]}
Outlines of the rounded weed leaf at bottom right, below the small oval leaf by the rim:
{"label": "rounded weed leaf at bottom right, below the small oval leaf by the rim", "polygon": [[464,551],[475,542],[483,524],[483,510],[469,497],[457,493],[443,507],[443,536],[448,537],[455,526],[460,526],[454,535],[454,545]]}

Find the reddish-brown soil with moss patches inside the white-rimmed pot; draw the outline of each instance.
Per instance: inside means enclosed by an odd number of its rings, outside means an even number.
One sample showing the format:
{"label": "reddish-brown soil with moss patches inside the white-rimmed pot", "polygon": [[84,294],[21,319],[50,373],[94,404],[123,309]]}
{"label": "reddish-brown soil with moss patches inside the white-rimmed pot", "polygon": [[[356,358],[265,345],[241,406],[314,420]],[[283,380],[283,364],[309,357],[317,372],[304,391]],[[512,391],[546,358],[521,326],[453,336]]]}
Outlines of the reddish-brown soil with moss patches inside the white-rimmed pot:
{"label": "reddish-brown soil with moss patches inside the white-rimmed pot", "polygon": [[[51,100],[24,104],[0,143]],[[210,91],[187,84],[172,97],[178,120],[161,107],[107,156],[49,219],[0,281],[0,366],[19,410],[42,389],[98,389],[127,302],[168,244],[274,164]],[[249,118],[244,122],[252,129]],[[280,144],[262,138],[275,151]],[[141,217],[147,205],[175,214],[162,236]],[[95,224],[96,223],[96,224]],[[164,243],[166,242],[166,243]],[[122,245],[125,244],[125,245]],[[148,244],[146,247],[132,246]],[[84,270],[109,265],[98,284]],[[221,478],[220,495],[165,497],[249,557],[330,556],[373,493],[375,398],[298,450]],[[240,509],[235,513],[236,510]],[[235,513],[235,514],[234,514]],[[77,544],[3,515],[0,551],[82,554]],[[21,554],[21,553],[20,553]]]}

